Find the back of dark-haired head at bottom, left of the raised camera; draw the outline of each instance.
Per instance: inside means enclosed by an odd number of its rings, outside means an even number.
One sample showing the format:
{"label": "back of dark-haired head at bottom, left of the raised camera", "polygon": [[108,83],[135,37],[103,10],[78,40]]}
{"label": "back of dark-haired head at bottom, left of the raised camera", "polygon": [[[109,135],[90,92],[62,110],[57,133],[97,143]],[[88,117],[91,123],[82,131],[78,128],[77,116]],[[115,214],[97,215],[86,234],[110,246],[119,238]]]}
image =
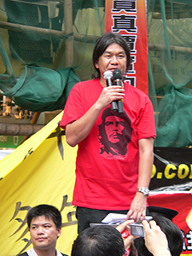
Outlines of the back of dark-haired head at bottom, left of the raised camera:
{"label": "back of dark-haired head at bottom, left of the raised camera", "polygon": [[72,256],[123,256],[125,246],[119,230],[110,225],[92,226],[73,242]]}

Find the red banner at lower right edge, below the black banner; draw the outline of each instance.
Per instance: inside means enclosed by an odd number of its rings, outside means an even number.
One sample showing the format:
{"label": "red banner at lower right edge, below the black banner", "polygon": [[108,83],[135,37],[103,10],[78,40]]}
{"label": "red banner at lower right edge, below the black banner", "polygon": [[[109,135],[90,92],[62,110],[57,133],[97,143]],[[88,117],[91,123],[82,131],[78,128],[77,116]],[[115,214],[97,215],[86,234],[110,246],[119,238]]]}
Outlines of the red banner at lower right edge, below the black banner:
{"label": "red banner at lower right edge, below the black banner", "polygon": [[[165,207],[178,212],[177,216],[174,217],[172,221],[183,233],[184,242],[182,255],[192,255],[192,218],[190,217],[192,209],[191,192],[151,192],[148,196],[148,204],[149,206]],[[188,218],[187,222],[186,218]]]}

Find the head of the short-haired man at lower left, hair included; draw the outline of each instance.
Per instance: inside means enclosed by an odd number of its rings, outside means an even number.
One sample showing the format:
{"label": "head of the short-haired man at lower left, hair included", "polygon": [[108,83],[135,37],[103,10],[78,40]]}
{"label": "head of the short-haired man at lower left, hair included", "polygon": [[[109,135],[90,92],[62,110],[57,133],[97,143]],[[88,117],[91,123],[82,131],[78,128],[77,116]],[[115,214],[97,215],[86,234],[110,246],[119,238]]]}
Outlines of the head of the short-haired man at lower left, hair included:
{"label": "head of the short-haired man at lower left, hair included", "polygon": [[54,252],[57,238],[61,236],[61,213],[58,209],[45,204],[32,207],[26,220],[35,252]]}

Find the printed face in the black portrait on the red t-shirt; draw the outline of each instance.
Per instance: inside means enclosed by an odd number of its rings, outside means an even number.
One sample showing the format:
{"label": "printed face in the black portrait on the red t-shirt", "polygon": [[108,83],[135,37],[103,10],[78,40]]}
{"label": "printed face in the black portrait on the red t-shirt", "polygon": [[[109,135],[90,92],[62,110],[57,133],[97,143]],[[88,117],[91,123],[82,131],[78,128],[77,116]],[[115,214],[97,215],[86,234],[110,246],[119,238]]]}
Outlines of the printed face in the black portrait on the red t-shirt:
{"label": "printed face in the black portrait on the red t-shirt", "polygon": [[105,119],[105,131],[110,143],[119,143],[119,137],[125,128],[125,121],[119,117],[108,116]]}

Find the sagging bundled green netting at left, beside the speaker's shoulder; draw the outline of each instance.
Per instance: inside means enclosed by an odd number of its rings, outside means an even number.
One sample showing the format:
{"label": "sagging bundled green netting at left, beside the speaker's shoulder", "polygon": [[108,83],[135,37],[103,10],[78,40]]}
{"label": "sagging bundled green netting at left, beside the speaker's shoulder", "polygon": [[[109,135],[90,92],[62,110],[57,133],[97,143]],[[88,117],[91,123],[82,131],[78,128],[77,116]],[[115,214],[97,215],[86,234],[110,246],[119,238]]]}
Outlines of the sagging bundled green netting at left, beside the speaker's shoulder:
{"label": "sagging bundled green netting at left, beside the speaker's shoulder", "polygon": [[55,71],[47,67],[26,65],[17,83],[6,92],[15,104],[35,112],[63,109],[73,85],[80,82],[72,67]]}

